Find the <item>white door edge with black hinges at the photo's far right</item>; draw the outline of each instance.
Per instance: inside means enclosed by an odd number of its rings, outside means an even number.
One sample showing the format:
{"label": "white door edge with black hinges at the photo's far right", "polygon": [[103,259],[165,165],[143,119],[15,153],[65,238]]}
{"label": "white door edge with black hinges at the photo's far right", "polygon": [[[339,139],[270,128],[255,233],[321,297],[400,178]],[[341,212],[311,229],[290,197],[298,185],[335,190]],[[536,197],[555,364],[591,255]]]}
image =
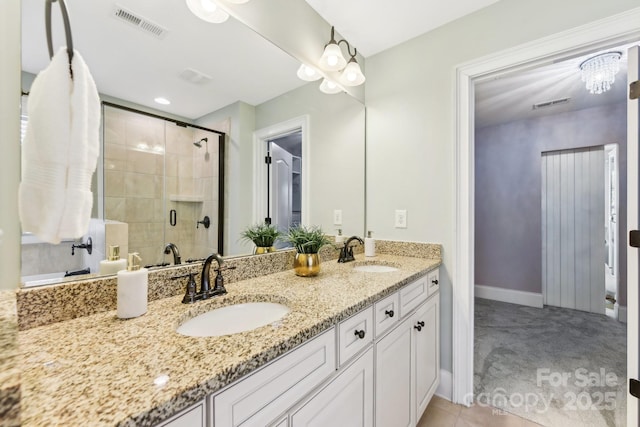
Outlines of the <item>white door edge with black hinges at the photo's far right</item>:
{"label": "white door edge with black hinges at the photo's far right", "polygon": [[[640,48],[634,46],[629,49],[628,83],[640,80],[639,68]],[[640,106],[638,103],[637,99],[627,102],[627,224],[629,230],[640,230],[638,221]],[[638,270],[640,266],[638,256],[638,248],[627,248],[627,375],[634,379],[640,379],[640,360],[638,359],[638,306],[640,304],[638,293],[640,274]],[[639,422],[638,399],[627,394],[627,425],[637,426]]]}

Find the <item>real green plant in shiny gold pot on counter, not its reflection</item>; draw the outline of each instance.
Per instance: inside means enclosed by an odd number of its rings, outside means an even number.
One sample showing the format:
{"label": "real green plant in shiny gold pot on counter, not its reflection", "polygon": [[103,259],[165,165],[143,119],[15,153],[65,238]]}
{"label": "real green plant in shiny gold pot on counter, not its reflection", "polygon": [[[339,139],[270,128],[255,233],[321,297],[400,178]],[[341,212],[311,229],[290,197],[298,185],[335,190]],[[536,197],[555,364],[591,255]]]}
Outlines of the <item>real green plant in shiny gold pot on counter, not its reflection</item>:
{"label": "real green plant in shiny gold pot on counter, not its reflection", "polygon": [[331,243],[320,227],[291,227],[283,240],[291,243],[296,249],[293,270],[298,276],[315,276],[320,272],[318,251]]}

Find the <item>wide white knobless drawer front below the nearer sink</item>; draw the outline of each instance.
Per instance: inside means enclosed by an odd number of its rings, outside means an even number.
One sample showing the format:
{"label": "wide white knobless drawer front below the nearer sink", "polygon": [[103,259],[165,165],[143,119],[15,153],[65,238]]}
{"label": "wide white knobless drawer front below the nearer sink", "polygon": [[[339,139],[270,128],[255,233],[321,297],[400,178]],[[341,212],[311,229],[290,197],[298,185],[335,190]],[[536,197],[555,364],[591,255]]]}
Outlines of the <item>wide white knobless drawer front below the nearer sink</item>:
{"label": "wide white knobless drawer front below the nearer sink", "polygon": [[336,370],[335,328],[213,396],[215,427],[264,426]]}

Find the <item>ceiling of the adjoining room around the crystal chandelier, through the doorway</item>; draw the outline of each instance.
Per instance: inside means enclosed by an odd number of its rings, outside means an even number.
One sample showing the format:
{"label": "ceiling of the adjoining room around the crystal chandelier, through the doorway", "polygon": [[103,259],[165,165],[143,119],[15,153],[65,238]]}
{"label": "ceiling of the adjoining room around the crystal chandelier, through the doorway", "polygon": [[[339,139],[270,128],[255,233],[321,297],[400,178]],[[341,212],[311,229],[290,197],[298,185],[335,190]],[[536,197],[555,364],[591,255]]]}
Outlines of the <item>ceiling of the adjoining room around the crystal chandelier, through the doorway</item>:
{"label": "ceiling of the adjoining room around the crystal chandelier, through the doorway", "polygon": [[[476,84],[476,127],[508,123],[550,114],[581,110],[624,102],[627,91],[627,55],[629,45],[592,52],[531,69],[490,77]],[[611,90],[600,95],[589,93],[582,82],[580,64],[597,53],[622,52],[620,72]],[[533,110],[533,105],[570,98],[566,104]]]}

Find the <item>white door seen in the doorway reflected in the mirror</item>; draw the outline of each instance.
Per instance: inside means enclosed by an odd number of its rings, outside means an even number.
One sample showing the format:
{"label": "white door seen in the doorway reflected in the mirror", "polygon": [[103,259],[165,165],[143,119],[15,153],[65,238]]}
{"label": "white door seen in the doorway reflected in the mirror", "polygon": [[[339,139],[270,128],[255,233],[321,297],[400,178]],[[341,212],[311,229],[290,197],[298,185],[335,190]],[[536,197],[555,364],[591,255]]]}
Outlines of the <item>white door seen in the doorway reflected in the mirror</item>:
{"label": "white door seen in the doorway reflected in the mirror", "polygon": [[269,143],[269,154],[271,223],[277,226],[280,232],[286,233],[291,225],[293,211],[293,156],[273,142]]}

